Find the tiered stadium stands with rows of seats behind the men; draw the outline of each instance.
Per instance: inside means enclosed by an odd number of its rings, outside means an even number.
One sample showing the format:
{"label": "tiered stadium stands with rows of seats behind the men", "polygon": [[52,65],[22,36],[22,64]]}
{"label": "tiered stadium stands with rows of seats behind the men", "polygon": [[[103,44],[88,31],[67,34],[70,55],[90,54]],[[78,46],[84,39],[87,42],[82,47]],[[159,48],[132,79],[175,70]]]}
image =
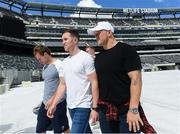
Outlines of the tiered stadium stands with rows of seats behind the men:
{"label": "tiered stadium stands with rows of seats behind the men", "polygon": [[[61,42],[61,33],[66,28],[79,31],[81,49],[88,43],[95,47],[96,53],[102,51],[94,36],[87,35],[86,31],[98,21],[112,23],[118,41],[136,48],[145,71],[154,70],[155,65],[156,70],[157,65],[176,66],[174,68],[180,66],[180,8],[84,8],[23,0],[1,0],[0,4],[3,5],[0,7],[1,24],[8,17],[15,22],[23,22],[25,28],[25,37],[7,36],[3,34],[1,25],[1,68],[30,72],[27,80],[32,80],[33,76],[34,79],[40,79],[42,66],[32,55],[32,48],[37,43],[50,47],[53,55],[58,58],[68,55]],[[17,76],[14,78],[16,80],[13,82],[20,82]]]}

